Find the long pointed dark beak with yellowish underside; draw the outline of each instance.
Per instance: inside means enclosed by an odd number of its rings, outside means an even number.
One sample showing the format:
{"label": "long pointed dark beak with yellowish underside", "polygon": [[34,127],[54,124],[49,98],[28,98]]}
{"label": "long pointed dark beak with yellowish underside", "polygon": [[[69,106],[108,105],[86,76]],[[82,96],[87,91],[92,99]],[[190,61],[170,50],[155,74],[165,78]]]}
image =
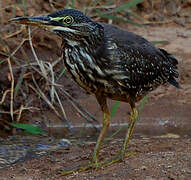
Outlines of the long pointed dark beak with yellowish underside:
{"label": "long pointed dark beak with yellowish underside", "polygon": [[9,22],[45,28],[52,28],[53,26],[48,16],[16,17],[10,19]]}

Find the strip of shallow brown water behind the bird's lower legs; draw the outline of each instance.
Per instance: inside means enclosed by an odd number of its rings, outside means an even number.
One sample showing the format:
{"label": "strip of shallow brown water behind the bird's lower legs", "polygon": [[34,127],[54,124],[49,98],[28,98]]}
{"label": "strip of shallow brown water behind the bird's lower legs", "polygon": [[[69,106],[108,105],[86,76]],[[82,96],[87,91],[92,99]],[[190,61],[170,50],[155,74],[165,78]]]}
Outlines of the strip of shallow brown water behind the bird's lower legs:
{"label": "strip of shallow brown water behind the bird's lower legs", "polygon": [[[97,131],[95,130],[95,127]],[[66,133],[68,128],[66,125],[56,124],[54,126],[49,127],[49,132],[52,136],[56,138],[62,137],[70,137],[71,134],[74,134],[75,137],[97,137],[102,125],[95,125],[94,127],[92,124],[79,124],[72,126],[72,133]],[[126,130],[128,128],[128,123],[111,123],[109,130],[107,132],[107,136],[111,136],[117,131],[117,138],[123,138],[125,136]],[[181,123],[181,125],[173,125],[170,126],[168,121],[161,121],[160,123],[144,123],[138,122],[135,127],[134,136],[136,137],[163,137],[167,135],[169,138],[173,138],[173,134],[177,135],[178,137],[191,137],[191,126],[188,123]],[[171,136],[172,135],[172,136]],[[176,136],[174,136],[176,137]]]}

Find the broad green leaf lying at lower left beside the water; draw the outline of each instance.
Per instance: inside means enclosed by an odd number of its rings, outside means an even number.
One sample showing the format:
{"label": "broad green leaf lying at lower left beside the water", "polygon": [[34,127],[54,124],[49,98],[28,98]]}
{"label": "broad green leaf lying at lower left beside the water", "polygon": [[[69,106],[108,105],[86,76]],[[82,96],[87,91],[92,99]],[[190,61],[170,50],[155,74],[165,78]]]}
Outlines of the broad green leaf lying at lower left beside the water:
{"label": "broad green leaf lying at lower left beside the water", "polygon": [[47,134],[38,126],[30,125],[30,124],[23,124],[23,123],[11,123],[11,126],[19,129],[25,130],[27,133],[32,135],[42,135],[47,136]]}

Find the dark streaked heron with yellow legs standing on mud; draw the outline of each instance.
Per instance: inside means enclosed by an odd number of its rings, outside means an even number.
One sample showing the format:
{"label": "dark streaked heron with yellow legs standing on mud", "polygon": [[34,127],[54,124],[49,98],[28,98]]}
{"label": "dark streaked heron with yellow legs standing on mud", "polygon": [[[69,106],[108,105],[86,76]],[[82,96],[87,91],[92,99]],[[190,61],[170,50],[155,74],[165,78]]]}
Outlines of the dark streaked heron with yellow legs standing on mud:
{"label": "dark streaked heron with yellow legs standing on mud", "polygon": [[[64,64],[73,80],[95,95],[103,113],[102,129],[87,167],[99,168],[123,160],[135,127],[136,103],[161,85],[180,88],[178,60],[145,38],[112,24],[93,21],[76,9],[63,9],[45,16],[15,17],[13,23],[42,27],[62,39]],[[111,121],[107,100],[131,107],[122,148],[109,161],[100,162],[99,152]],[[66,171],[65,174],[74,172]]]}

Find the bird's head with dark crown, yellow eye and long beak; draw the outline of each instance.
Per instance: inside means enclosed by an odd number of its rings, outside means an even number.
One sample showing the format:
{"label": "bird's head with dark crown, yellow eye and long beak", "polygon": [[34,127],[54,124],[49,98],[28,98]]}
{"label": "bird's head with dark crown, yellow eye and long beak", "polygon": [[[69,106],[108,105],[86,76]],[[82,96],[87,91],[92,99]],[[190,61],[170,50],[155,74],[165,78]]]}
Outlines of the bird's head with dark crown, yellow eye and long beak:
{"label": "bird's head with dark crown, yellow eye and long beak", "polygon": [[93,43],[92,41],[100,41],[103,36],[102,25],[74,9],[64,9],[47,16],[16,17],[10,21],[45,28],[67,41],[89,39]]}

